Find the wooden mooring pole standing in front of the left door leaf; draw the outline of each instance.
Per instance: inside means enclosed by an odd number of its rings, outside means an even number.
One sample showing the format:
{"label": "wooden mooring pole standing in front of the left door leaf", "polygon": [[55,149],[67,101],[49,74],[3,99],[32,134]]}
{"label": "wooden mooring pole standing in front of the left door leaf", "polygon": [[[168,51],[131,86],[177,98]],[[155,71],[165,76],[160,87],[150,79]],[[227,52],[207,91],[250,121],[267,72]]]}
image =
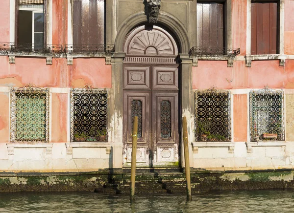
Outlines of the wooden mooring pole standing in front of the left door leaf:
{"label": "wooden mooring pole standing in front of the left door leaf", "polygon": [[131,161],[131,192],[130,200],[135,198],[135,177],[136,177],[136,157],[137,157],[137,132],[138,132],[138,117],[134,117],[133,123],[133,143],[132,143],[132,161]]}

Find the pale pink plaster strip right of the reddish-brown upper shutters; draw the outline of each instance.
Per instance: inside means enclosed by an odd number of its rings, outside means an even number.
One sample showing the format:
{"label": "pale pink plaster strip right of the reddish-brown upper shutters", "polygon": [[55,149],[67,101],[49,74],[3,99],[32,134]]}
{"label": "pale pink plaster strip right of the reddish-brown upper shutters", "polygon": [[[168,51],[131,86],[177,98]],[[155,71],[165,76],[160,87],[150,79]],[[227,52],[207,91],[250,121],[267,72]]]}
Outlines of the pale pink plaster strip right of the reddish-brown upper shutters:
{"label": "pale pink plaster strip right of the reddish-brown upper shutters", "polygon": [[285,54],[294,54],[294,1],[285,0]]}

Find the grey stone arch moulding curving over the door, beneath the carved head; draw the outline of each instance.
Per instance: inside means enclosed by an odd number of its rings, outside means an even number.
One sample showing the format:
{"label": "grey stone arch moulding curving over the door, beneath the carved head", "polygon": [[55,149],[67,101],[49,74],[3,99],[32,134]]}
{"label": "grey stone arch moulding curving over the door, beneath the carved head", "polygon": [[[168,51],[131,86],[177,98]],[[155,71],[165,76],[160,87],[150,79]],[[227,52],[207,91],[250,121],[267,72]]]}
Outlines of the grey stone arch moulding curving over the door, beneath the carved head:
{"label": "grey stone arch moulding curving over the door, beneath the carved head", "polygon": [[[124,41],[127,34],[138,25],[147,23],[146,15],[144,12],[136,13],[129,17],[123,24],[119,27],[119,31],[115,40],[116,52],[123,52]],[[187,30],[181,21],[173,17],[171,14],[161,11],[158,16],[158,24],[162,24],[169,28],[179,43],[178,52],[188,53],[190,49],[189,38],[187,35]]]}

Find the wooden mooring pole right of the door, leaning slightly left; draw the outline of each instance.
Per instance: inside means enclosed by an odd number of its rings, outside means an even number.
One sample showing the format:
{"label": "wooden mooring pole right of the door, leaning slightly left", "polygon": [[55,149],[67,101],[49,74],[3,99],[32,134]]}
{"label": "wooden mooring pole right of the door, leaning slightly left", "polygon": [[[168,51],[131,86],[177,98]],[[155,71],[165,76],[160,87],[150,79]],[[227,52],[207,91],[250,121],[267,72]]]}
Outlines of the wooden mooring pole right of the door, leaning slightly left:
{"label": "wooden mooring pole right of the door, leaning slightly left", "polygon": [[187,200],[191,200],[192,199],[191,177],[190,177],[189,145],[188,145],[188,130],[187,130],[186,117],[183,117],[183,142],[184,142],[185,170],[186,170],[186,180],[187,180]]}

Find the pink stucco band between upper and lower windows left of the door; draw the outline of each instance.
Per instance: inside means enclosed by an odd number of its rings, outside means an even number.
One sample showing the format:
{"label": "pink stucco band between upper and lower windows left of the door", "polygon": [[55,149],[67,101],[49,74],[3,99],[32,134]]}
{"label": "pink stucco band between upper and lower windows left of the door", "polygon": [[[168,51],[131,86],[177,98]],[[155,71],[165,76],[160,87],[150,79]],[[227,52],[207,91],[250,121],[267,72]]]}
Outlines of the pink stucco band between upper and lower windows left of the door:
{"label": "pink stucco band between upper and lower windows left of the door", "polygon": [[81,87],[86,84],[100,88],[111,87],[111,65],[104,58],[74,59],[73,66],[66,59],[16,57],[9,64],[7,56],[0,57],[0,86]]}

